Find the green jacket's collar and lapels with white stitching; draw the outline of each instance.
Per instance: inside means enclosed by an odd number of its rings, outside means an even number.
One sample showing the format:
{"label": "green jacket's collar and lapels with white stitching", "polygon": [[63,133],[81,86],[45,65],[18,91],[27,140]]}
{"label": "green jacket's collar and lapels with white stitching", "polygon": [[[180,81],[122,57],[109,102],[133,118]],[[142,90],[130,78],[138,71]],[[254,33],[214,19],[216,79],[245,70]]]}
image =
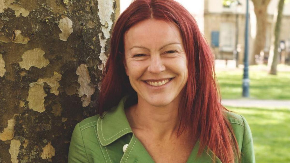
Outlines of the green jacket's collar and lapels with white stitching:
{"label": "green jacket's collar and lapels with white stitching", "polygon": [[[104,112],[103,116],[98,118],[97,136],[99,137],[102,146],[107,146],[120,137],[128,133],[133,133],[124,110],[124,104],[128,97],[129,95],[124,96],[117,106],[113,107],[110,111]],[[197,141],[187,162],[213,162],[214,154],[211,150],[207,152],[206,149],[204,149],[200,154],[200,157],[197,157],[199,146],[200,142]],[[134,150],[133,147],[135,148]],[[135,135],[132,136],[128,148],[129,149],[126,150],[126,157],[122,157],[122,159],[126,159],[128,162],[136,162],[136,160],[148,160],[147,162],[153,162],[151,156],[148,154],[141,142],[137,140]],[[140,153],[143,153],[142,158],[140,158]],[[218,158],[216,162],[221,163]]]}

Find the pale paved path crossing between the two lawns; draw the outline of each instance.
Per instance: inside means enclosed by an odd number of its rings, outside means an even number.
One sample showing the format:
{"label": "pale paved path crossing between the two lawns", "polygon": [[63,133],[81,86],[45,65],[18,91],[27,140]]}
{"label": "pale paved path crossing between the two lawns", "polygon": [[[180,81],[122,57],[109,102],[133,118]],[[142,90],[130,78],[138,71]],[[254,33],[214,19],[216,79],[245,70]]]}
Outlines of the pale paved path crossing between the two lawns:
{"label": "pale paved path crossing between the two lawns", "polygon": [[224,106],[259,107],[259,108],[289,108],[290,100],[257,100],[257,99],[223,99]]}

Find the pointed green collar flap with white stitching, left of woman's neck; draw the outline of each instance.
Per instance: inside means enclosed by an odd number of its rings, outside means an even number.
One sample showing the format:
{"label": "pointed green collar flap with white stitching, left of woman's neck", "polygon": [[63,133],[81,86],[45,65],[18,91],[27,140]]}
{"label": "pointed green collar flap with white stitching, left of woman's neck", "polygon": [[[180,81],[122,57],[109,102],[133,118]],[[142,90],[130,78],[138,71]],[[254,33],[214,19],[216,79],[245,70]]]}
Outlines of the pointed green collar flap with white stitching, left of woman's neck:
{"label": "pointed green collar flap with white stitching, left of woman's neck", "polygon": [[127,133],[133,133],[124,110],[128,97],[124,96],[117,106],[104,112],[97,120],[97,135],[102,146],[111,144]]}

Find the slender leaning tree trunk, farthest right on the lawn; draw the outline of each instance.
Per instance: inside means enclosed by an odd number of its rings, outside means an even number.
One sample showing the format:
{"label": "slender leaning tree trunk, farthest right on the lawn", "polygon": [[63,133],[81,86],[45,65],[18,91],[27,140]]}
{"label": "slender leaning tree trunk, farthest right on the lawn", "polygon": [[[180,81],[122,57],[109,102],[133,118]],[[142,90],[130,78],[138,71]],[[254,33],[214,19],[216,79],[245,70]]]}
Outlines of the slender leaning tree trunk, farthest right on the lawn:
{"label": "slender leaning tree trunk, farthest right on the lawn", "polygon": [[275,41],[271,45],[270,56],[268,60],[268,66],[270,67],[269,74],[277,75],[277,64],[278,64],[278,47],[280,44],[280,29],[283,17],[284,0],[279,0],[278,3],[278,15],[275,25]]}

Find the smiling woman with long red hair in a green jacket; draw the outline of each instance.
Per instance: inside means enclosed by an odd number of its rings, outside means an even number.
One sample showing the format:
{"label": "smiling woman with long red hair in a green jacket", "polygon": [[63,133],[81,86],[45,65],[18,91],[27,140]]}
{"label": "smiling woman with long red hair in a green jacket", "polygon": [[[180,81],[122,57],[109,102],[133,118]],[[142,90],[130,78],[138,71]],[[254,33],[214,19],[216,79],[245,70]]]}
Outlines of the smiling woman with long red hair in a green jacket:
{"label": "smiling woman with long red hair in a green jacket", "polygon": [[247,121],[220,104],[211,50],[173,0],[135,0],[120,15],[98,101],[69,162],[255,162]]}

